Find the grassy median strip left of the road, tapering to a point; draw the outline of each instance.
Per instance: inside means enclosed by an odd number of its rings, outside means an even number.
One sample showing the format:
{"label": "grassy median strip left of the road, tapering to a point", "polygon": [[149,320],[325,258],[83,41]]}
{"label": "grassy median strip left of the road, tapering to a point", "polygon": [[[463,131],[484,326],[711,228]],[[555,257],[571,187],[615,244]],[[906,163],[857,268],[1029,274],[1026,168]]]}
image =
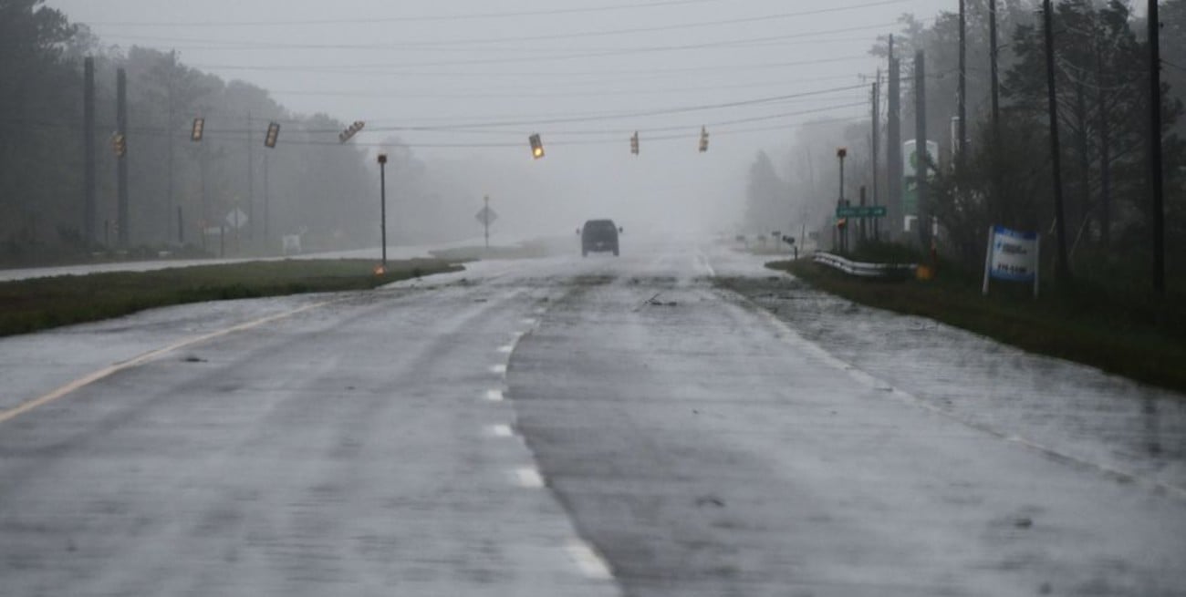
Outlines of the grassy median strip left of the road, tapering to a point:
{"label": "grassy median strip left of the road, tapering to a point", "polygon": [[389,262],[381,275],[374,268],[372,259],[270,261],[2,282],[0,336],[171,304],[366,290],[461,269],[440,259]]}

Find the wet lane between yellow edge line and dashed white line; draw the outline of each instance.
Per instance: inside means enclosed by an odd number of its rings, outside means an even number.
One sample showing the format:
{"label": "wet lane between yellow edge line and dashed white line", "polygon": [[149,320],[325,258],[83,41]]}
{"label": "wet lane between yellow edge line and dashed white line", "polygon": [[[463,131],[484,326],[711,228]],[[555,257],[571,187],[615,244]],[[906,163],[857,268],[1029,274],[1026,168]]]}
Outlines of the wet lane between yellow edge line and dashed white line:
{"label": "wet lane between yellow edge line and dashed white line", "polygon": [[[5,422],[0,593],[614,595],[510,432],[506,360],[548,285],[440,284],[332,296]],[[251,316],[292,310],[270,302]]]}

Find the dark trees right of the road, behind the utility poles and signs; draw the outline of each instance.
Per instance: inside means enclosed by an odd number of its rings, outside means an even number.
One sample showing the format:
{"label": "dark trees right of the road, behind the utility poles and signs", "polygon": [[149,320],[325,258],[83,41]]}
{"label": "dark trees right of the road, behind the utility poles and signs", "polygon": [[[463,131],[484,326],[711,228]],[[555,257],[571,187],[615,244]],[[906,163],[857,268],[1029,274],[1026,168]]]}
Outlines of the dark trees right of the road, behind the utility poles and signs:
{"label": "dark trees right of the road, behind the utility poles and signs", "polygon": [[[1064,0],[1054,2],[1056,88],[1061,137],[1061,176],[1066,246],[1078,277],[1122,280],[1148,287],[1152,276],[1152,204],[1148,178],[1148,45],[1147,23],[1129,2]],[[913,15],[901,19],[894,53],[901,62],[901,139],[914,137],[916,51],[926,57],[927,136],[939,143],[930,205],[940,225],[940,250],[975,269],[983,263],[989,225],[1001,224],[1044,235],[1044,265],[1056,251],[1054,207],[1047,116],[1041,5],[1035,0],[999,0],[1001,118],[1000,150],[993,149],[990,110],[988,0],[967,2],[968,149],[957,172],[952,155],[952,118],[958,114],[958,17],[940,13],[931,25]],[[1161,4],[1162,105],[1165,130],[1165,222],[1168,275],[1186,278],[1186,0]],[[873,49],[885,57],[888,37]],[[872,77],[871,77],[872,84]],[[882,92],[885,77],[882,75]],[[881,102],[885,115],[885,96]],[[876,173],[886,201],[885,121],[881,162]],[[751,192],[747,225],[805,219],[828,244],[837,197],[835,148],[849,147],[848,198],[860,186],[872,192],[871,122],[821,123],[804,127],[790,150],[783,182],[792,195],[782,206]],[[754,173],[761,173],[759,156]],[[760,178],[751,184],[770,185]],[[764,199],[765,198],[765,199]],[[882,226],[893,226],[885,223]],[[900,230],[900,226],[893,226]],[[884,230],[884,227],[882,227]],[[906,242],[914,237],[899,235]]]}

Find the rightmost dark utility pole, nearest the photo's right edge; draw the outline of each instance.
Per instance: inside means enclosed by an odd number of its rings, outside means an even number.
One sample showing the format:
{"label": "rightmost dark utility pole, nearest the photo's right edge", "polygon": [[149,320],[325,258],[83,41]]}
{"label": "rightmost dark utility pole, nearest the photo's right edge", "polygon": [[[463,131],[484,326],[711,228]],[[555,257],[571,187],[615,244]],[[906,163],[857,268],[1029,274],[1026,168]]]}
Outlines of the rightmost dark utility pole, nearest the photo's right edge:
{"label": "rightmost dark utility pole, nearest the photo's right edge", "polygon": [[1149,186],[1153,191],[1153,291],[1166,291],[1166,212],[1161,172],[1161,18],[1149,0]]}

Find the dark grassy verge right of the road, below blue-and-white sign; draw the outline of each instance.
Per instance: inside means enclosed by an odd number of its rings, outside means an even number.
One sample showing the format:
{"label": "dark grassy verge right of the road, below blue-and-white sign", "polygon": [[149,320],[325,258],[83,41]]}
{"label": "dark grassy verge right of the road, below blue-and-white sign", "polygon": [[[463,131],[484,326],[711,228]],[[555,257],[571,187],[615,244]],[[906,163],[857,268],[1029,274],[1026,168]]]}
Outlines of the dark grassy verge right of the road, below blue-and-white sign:
{"label": "dark grassy verge right of the road, below blue-and-white sign", "polygon": [[1019,348],[1082,362],[1137,381],[1186,392],[1186,304],[1108,294],[1102,289],[1046,293],[978,284],[957,276],[901,283],[853,278],[806,259],[773,262],[820,290],[850,301],[942,321]]}

